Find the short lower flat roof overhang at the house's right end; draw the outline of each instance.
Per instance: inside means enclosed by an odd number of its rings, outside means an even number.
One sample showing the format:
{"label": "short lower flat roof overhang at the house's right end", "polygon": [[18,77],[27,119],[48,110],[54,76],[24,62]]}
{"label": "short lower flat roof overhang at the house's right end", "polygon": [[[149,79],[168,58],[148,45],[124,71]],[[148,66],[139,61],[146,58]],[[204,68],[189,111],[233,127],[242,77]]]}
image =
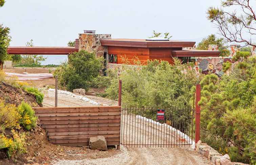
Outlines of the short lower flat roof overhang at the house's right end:
{"label": "short lower flat roof overhang at the house's right end", "polygon": [[172,51],[173,57],[219,57],[220,51],[211,50],[177,50]]}

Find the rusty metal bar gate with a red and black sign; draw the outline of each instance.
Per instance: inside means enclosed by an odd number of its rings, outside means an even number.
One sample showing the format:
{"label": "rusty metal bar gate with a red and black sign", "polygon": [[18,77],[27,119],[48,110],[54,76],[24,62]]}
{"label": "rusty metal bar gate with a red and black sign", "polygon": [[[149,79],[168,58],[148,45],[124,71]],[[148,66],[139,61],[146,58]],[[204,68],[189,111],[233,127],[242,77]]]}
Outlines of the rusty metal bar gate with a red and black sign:
{"label": "rusty metal bar gate with a red and black sign", "polygon": [[189,147],[193,143],[193,116],[194,109],[191,106],[169,108],[123,106],[121,145]]}

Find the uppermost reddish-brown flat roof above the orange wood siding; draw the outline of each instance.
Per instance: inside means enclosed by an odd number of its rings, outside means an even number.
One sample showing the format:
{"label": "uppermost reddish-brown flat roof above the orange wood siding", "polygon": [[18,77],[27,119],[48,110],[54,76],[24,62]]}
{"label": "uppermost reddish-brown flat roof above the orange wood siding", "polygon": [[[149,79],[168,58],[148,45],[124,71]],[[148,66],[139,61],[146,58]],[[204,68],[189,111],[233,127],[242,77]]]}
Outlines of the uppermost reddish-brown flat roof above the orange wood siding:
{"label": "uppermost reddish-brown flat roof above the orange wood siding", "polygon": [[137,48],[183,48],[193,47],[195,42],[173,40],[146,40],[146,39],[100,39],[103,46],[137,47]]}

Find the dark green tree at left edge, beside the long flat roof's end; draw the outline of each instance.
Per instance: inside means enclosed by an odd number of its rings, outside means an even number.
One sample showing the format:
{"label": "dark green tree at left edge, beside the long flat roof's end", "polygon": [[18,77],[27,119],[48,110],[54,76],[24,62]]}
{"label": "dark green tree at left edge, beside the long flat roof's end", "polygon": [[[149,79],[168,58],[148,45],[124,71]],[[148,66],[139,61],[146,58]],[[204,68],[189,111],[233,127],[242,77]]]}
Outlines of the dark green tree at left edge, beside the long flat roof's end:
{"label": "dark green tree at left edge, beside the long flat roof's end", "polygon": [[[1,3],[4,4],[4,1]],[[2,69],[3,61],[7,58],[7,48],[10,43],[9,33],[10,29],[0,24],[0,69]]]}

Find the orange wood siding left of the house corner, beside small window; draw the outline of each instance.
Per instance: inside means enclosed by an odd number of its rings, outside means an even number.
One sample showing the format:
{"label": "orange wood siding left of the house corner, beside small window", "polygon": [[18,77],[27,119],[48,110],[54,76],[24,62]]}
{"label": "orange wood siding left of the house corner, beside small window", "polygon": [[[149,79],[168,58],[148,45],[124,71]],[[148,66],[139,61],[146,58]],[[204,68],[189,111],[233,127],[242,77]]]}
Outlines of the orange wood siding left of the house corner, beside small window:
{"label": "orange wood siding left of the house corner, beside small window", "polygon": [[133,64],[135,57],[138,58],[141,63],[146,63],[149,59],[149,48],[108,46],[108,54],[116,54],[118,56],[118,64],[125,63],[122,58],[126,58],[130,64]]}

